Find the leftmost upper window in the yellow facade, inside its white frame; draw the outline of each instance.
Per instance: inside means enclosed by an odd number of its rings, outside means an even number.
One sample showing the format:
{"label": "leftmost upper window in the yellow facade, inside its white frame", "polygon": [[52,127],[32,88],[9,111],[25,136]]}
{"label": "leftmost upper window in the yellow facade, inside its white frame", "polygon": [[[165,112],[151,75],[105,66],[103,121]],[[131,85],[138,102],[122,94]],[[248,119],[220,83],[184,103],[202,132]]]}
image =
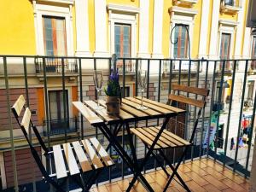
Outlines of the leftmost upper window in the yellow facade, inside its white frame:
{"label": "leftmost upper window in the yellow facade, inside its white frame", "polygon": [[65,18],[43,17],[44,54],[48,56],[67,55]]}

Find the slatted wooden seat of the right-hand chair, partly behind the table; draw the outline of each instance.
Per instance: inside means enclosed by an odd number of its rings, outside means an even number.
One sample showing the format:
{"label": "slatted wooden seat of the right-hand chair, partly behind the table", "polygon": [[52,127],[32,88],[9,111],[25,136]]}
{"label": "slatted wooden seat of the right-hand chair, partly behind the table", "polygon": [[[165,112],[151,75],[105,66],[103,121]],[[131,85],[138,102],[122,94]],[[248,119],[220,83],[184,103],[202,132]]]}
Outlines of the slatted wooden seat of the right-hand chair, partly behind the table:
{"label": "slatted wooden seat of the right-hand chair, partly behind the table", "polygon": [[[142,128],[131,128],[131,132],[139,137],[143,143],[148,144],[151,146],[154,142],[155,137],[160,131],[159,126],[150,126],[150,127],[142,127]],[[178,137],[177,135],[173,134],[171,131],[164,130],[159,140],[157,141],[154,149],[160,148],[180,148],[189,146],[191,143],[184,140],[182,137]]]}

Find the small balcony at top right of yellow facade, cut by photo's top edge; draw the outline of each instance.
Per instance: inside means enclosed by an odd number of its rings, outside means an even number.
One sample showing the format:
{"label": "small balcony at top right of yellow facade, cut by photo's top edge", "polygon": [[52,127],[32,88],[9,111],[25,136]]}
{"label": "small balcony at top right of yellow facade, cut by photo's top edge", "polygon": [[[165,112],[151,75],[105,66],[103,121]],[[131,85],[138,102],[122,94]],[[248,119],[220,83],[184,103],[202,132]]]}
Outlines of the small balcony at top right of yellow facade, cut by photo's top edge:
{"label": "small balcony at top right of yellow facade, cut by photo's top edge", "polygon": [[220,12],[222,14],[228,13],[235,15],[239,10],[241,10],[239,0],[222,0],[220,4]]}

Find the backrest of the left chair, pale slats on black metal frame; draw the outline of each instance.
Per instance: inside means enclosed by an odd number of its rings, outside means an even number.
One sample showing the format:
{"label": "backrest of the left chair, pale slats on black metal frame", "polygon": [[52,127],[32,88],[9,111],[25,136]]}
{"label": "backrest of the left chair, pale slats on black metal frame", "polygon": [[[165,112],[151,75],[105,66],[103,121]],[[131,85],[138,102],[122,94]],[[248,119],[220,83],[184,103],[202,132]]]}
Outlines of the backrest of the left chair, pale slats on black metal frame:
{"label": "backrest of the left chair, pale slats on black metal frame", "polygon": [[[32,143],[30,142],[27,132],[28,132],[29,126],[32,126],[32,129],[33,129],[36,137],[38,138],[38,142],[40,143],[41,147],[45,148],[44,151],[47,150],[47,152],[48,152],[48,148],[46,148],[44,141],[38,132],[37,127],[32,124],[32,119],[31,119],[32,113],[29,108],[25,108],[25,103],[26,103],[26,101],[25,101],[24,96],[20,95],[19,98],[17,99],[17,101],[15,102],[15,104],[12,106],[12,112],[15,115],[15,119],[17,120],[17,123],[20,125],[21,131],[23,132],[24,136],[26,137],[26,141],[29,144],[29,147],[32,152],[32,156],[33,156],[34,160],[36,161],[38,168],[39,168],[40,172],[42,173],[42,175],[44,176],[44,178],[46,179],[46,181],[51,183],[55,187],[55,189],[57,189],[57,191],[65,192],[65,190],[61,189],[61,187],[57,183],[55,183],[55,181],[52,178],[49,177],[49,174],[48,174],[48,172],[46,172],[44,165],[42,163],[42,160],[41,160],[40,156],[38,155],[38,151],[33,147]],[[20,113],[22,112],[22,110],[24,110],[25,112],[23,113],[23,118],[20,121],[20,118],[21,118]]]}

